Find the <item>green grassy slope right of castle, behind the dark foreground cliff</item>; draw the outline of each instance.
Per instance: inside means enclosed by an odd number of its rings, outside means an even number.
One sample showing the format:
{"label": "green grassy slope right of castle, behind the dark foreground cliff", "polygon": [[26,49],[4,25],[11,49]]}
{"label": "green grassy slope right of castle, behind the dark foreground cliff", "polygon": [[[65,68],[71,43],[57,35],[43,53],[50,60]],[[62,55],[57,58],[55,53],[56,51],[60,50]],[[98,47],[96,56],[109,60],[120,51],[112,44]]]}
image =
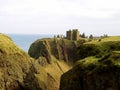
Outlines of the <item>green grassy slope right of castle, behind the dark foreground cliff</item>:
{"label": "green grassy slope right of castle, behind the dark foreground cliff", "polygon": [[96,56],[100,58],[111,51],[120,51],[120,37],[113,36],[101,39],[101,41],[93,40],[86,42],[77,47],[77,60],[88,56]]}

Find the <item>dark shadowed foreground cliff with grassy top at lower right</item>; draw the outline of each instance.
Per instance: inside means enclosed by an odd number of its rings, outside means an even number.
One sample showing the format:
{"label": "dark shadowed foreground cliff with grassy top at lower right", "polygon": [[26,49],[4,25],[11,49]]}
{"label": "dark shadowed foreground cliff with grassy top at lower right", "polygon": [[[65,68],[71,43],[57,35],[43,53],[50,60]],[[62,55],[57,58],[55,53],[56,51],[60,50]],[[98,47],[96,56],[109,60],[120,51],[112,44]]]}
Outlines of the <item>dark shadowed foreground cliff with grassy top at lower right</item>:
{"label": "dark shadowed foreground cliff with grassy top at lower right", "polygon": [[91,58],[62,75],[60,90],[120,90],[120,53]]}

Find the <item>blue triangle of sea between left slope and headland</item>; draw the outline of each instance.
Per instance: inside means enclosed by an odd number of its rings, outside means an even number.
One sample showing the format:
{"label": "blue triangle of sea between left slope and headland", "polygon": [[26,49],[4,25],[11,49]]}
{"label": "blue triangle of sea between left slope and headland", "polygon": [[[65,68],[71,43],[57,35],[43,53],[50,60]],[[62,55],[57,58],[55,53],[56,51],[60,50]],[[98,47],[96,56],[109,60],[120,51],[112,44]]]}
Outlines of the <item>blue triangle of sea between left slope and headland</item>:
{"label": "blue triangle of sea between left slope and headland", "polygon": [[37,39],[41,38],[50,38],[52,35],[39,35],[39,34],[34,34],[34,35],[26,35],[26,34],[8,34],[12,40],[17,44],[21,49],[24,51],[28,52],[28,49],[30,45],[36,41]]}

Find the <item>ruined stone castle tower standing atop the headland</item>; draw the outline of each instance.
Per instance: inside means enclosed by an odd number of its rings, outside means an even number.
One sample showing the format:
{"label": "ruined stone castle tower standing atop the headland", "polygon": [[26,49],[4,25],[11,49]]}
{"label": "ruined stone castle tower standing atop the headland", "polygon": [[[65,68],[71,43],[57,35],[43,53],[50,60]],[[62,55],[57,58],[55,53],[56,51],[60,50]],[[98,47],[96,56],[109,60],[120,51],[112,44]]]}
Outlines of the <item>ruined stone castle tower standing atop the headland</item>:
{"label": "ruined stone castle tower standing atop the headland", "polygon": [[66,38],[68,40],[79,40],[80,33],[79,33],[78,29],[73,29],[73,30],[67,31],[66,32]]}

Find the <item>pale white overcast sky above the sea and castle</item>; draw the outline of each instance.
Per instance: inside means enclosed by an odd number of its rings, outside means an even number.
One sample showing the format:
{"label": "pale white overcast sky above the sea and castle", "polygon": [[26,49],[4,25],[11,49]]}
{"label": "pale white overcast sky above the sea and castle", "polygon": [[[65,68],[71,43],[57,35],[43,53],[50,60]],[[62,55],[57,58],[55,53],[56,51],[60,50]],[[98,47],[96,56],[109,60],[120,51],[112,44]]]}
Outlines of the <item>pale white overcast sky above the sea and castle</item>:
{"label": "pale white overcast sky above the sea and castle", "polygon": [[0,32],[120,35],[119,0],[0,0]]}

